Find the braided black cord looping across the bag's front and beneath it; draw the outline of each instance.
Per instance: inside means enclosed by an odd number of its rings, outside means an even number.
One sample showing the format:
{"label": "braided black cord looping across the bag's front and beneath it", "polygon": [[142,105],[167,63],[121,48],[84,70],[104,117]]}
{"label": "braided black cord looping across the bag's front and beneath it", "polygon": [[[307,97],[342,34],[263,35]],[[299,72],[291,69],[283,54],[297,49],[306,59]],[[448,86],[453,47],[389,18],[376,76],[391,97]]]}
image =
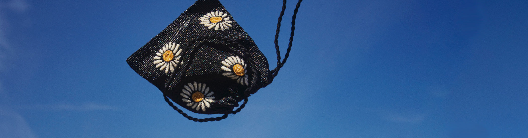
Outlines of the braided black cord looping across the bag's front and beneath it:
{"label": "braided black cord looping across the bag's front and beneath it", "polygon": [[[196,41],[207,40],[207,39],[225,41],[225,42],[231,43],[232,45],[238,46],[242,51],[244,51],[244,56],[243,57],[247,57],[247,55],[249,54],[247,49],[244,48],[244,46],[240,45],[238,42],[235,42],[233,40],[229,40],[229,38],[224,38],[224,37],[219,37],[219,36],[202,36],[202,37],[194,38],[191,41],[191,43],[189,43],[184,50],[187,51],[187,48],[190,47]],[[195,47],[195,48],[197,48],[197,47]],[[249,61],[251,61],[251,60],[249,60]],[[253,66],[253,67],[251,67],[252,70],[253,70],[253,73],[254,73],[253,76],[256,76],[257,72],[254,70],[254,64],[252,62],[250,62],[249,65]],[[170,105],[174,110],[176,110],[178,113],[182,114],[183,117],[187,118],[188,120],[192,120],[194,122],[220,121],[220,120],[226,119],[228,117],[228,114],[224,114],[224,115],[219,116],[219,117],[210,117],[210,118],[205,118],[205,119],[197,119],[195,117],[187,115],[182,110],[178,109],[178,107],[176,105],[174,105],[169,100],[167,95],[165,95],[165,92],[167,91],[168,85],[170,84],[170,82],[172,82],[174,80],[174,76],[173,76],[174,74],[175,73],[171,74],[171,76],[169,77],[169,79],[165,83],[165,89],[164,89],[164,92],[163,92],[163,97],[165,98],[165,102],[167,102],[168,105]],[[257,83],[257,81],[258,81],[258,77],[253,77],[253,80],[251,81],[251,86],[249,86],[246,89],[246,91],[244,91],[244,93],[248,93],[248,92],[252,91],[254,89],[254,87],[256,86],[255,84]],[[244,98],[244,102],[242,103],[242,105],[240,105],[240,107],[237,110],[232,111],[231,114],[237,114],[238,112],[240,112],[244,107],[246,107],[247,103],[248,103],[248,98],[246,97],[246,98]]]}

